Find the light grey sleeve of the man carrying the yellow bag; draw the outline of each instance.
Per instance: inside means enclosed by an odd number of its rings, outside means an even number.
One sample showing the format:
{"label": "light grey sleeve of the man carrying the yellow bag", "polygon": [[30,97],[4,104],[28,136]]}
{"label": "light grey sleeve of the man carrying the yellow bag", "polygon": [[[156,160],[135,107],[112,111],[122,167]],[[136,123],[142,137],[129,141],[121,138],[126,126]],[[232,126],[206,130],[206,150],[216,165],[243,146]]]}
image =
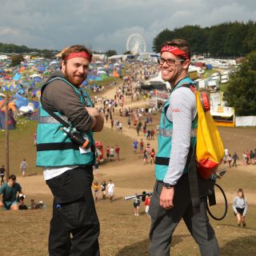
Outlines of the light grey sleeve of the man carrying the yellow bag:
{"label": "light grey sleeve of the man carrying the yellow bag", "polygon": [[175,185],[182,176],[190,150],[191,127],[197,113],[194,93],[186,87],[170,94],[166,118],[173,122],[170,162],[164,182]]}

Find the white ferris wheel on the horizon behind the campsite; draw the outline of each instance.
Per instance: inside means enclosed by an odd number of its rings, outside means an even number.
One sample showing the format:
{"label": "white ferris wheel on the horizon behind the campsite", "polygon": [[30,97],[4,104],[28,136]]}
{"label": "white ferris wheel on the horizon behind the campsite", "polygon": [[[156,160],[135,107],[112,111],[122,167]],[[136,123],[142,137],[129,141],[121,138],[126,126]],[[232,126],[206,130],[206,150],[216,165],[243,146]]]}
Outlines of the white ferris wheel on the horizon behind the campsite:
{"label": "white ferris wheel on the horizon behind the campsite", "polygon": [[126,50],[131,54],[143,54],[146,52],[146,40],[142,34],[133,33],[130,34],[126,41]]}

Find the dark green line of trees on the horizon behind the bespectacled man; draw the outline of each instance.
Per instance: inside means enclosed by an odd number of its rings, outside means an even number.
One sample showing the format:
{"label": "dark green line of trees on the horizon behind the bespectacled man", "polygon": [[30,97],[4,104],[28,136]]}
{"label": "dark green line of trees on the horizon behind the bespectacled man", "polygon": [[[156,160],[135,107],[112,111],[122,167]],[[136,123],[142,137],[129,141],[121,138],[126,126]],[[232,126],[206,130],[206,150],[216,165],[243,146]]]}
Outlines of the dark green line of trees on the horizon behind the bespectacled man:
{"label": "dark green line of trees on the horizon behind the bespectacled man", "polygon": [[162,30],[153,40],[153,50],[158,53],[162,43],[173,38],[186,39],[193,54],[211,57],[240,57],[256,50],[256,22],[224,22],[215,26],[183,26]]}

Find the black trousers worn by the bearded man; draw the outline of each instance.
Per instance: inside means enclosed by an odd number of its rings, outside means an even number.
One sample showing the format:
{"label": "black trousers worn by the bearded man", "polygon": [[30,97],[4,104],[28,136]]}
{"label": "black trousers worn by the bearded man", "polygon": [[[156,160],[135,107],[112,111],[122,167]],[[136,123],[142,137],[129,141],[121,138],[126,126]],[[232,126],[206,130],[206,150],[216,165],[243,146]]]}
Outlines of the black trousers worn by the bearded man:
{"label": "black trousers worn by the bearded man", "polygon": [[54,195],[50,256],[99,256],[99,222],[91,193],[92,166],[79,166],[46,181]]}

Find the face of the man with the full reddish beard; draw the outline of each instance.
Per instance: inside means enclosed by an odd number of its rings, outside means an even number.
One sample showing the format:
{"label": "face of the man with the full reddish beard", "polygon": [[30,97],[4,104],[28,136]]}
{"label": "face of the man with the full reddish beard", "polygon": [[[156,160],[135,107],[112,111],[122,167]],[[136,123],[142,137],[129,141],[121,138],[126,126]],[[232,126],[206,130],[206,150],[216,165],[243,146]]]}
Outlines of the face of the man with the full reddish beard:
{"label": "face of the man with the full reddish beard", "polygon": [[62,73],[66,80],[75,87],[81,86],[86,79],[90,62],[86,58],[70,58],[67,61],[62,60]]}

